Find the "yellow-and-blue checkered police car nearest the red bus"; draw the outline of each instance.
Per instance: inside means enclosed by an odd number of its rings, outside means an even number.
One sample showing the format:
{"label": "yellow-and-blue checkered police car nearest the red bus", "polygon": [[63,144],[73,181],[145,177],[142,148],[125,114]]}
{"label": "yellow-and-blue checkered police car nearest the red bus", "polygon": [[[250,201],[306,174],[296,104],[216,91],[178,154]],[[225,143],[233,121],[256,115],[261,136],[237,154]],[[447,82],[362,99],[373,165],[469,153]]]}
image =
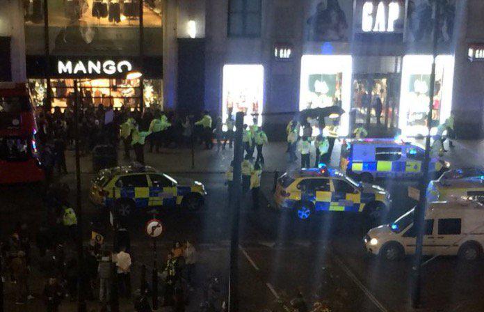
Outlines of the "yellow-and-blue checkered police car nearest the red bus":
{"label": "yellow-and-blue checkered police car nearest the red bus", "polygon": [[175,180],[151,166],[120,166],[99,171],[89,197],[99,206],[109,208],[115,203],[118,213],[127,216],[135,210],[160,206],[197,210],[204,204],[205,195],[200,182]]}

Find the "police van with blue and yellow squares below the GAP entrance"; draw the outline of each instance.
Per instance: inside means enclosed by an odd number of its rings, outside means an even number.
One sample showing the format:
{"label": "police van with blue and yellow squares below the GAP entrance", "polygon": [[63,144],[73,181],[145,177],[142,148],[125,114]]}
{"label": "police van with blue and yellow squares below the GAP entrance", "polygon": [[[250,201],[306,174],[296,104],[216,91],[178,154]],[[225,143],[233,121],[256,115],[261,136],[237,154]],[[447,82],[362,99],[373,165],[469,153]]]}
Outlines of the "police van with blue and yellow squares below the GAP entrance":
{"label": "police van with blue and yellow squares below the GAP entrance", "polygon": [[[424,148],[404,141],[362,139],[341,146],[339,166],[348,176],[364,182],[376,178],[419,178],[424,161]],[[440,176],[450,164],[431,157],[430,171]]]}

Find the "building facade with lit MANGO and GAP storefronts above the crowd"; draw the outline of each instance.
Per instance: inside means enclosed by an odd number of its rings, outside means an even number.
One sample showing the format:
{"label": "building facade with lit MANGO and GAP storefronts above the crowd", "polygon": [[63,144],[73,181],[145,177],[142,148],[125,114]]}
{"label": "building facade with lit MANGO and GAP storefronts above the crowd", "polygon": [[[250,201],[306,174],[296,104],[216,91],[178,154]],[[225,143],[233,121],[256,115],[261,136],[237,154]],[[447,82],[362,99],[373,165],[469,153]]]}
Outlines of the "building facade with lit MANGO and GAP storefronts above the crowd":
{"label": "building facade with lit MANGO and GAP storefronts above the crowd", "polygon": [[[426,133],[428,0],[0,1],[2,77],[27,79],[39,105],[67,107],[76,79],[89,104],[243,111],[273,132],[335,104],[341,135],[366,122]],[[459,137],[484,136],[483,10],[441,1],[434,131],[453,111]]]}

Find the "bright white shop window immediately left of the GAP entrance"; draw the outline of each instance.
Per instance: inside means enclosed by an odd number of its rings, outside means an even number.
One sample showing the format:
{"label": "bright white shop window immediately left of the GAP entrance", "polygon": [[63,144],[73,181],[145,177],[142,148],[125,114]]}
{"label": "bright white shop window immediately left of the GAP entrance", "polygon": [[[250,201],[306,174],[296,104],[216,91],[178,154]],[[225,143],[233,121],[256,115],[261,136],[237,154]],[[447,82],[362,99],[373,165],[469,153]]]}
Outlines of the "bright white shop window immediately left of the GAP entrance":
{"label": "bright white shop window immediately left of the GAP entrance", "polygon": [[[348,55],[305,55],[301,60],[299,109],[337,105],[350,111],[352,59]],[[348,134],[348,114],[341,116],[339,134]]]}

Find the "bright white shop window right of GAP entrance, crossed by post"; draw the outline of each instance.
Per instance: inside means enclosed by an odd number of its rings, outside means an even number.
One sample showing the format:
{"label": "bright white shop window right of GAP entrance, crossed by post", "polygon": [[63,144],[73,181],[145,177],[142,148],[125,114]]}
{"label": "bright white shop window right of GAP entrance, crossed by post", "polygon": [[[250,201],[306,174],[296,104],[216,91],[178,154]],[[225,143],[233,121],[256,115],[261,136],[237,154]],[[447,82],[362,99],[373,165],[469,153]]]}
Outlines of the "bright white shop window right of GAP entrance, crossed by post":
{"label": "bright white shop window right of GAP entrance, crossed by post", "polygon": [[[435,93],[433,101],[432,131],[451,114],[454,57],[437,56],[435,62]],[[412,135],[426,135],[430,72],[432,56],[407,55],[403,57],[399,127]]]}

